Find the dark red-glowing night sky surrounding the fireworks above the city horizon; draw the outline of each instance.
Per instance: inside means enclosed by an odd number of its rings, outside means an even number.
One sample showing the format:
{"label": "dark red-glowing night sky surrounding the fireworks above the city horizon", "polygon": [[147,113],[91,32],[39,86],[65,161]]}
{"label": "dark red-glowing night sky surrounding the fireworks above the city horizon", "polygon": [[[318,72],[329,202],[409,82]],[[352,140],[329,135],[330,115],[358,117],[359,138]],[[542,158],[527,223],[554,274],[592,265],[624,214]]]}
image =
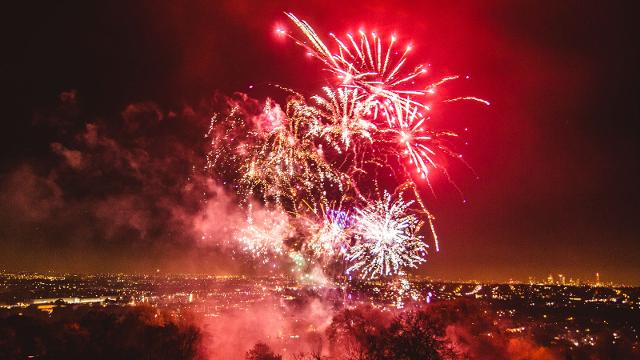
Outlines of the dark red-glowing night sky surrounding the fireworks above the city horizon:
{"label": "dark red-glowing night sky surrounding the fireworks above the city horizon", "polygon": [[[438,124],[469,129],[462,152],[479,178],[453,170],[466,203],[434,179],[428,202],[442,251],[424,273],[506,280],[600,272],[640,284],[640,29],[623,3],[5,6],[0,268],[241,271],[187,229],[198,223],[190,218],[198,204],[184,195],[184,180],[206,128],[193,109],[217,92],[264,98],[269,83],[317,91],[317,64],[273,34],[276,25],[293,30],[282,13],[293,11],[320,34],[398,33],[434,79],[470,75],[444,95],[491,101],[434,111]],[[186,210],[177,216],[175,208]]]}

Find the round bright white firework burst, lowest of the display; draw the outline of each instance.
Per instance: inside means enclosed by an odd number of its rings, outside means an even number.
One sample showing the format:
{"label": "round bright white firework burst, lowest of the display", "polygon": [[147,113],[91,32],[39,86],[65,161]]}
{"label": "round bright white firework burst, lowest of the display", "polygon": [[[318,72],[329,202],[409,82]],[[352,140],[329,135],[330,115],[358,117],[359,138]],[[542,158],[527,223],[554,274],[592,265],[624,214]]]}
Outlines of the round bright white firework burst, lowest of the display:
{"label": "round bright white firework burst, lowest of the display", "polygon": [[347,254],[347,261],[352,263],[347,273],[358,271],[364,279],[375,279],[426,261],[428,245],[418,234],[422,222],[406,213],[412,203],[404,202],[401,196],[392,201],[385,192],[382,200],[355,210],[353,233],[357,243]]}

